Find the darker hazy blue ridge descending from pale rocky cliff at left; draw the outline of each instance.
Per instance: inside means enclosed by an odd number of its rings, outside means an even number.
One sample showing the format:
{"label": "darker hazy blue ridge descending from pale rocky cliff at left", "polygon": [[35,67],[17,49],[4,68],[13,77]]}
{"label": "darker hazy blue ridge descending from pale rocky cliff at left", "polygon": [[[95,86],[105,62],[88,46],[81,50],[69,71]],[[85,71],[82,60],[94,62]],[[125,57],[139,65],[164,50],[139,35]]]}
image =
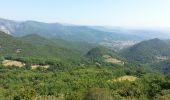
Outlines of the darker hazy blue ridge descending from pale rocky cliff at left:
{"label": "darker hazy blue ridge descending from pale rocky cliff at left", "polygon": [[60,38],[72,41],[101,42],[104,40],[138,40],[141,37],[94,29],[91,26],[76,26],[59,23],[43,23],[36,21],[12,21],[0,19],[0,26],[5,27],[14,36],[39,34],[48,38]]}

